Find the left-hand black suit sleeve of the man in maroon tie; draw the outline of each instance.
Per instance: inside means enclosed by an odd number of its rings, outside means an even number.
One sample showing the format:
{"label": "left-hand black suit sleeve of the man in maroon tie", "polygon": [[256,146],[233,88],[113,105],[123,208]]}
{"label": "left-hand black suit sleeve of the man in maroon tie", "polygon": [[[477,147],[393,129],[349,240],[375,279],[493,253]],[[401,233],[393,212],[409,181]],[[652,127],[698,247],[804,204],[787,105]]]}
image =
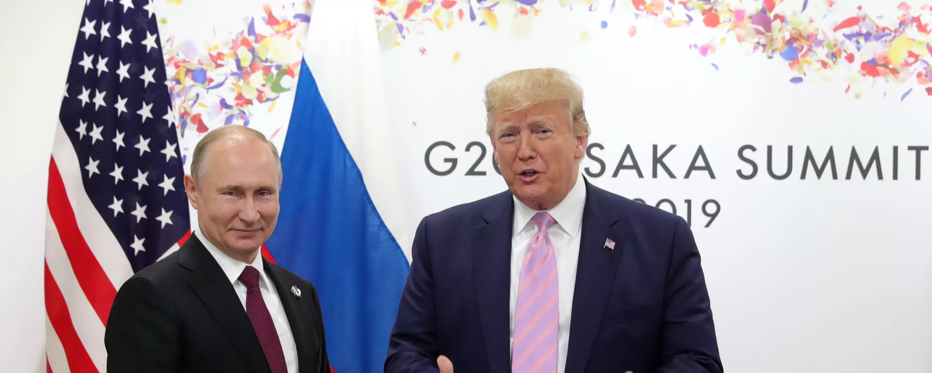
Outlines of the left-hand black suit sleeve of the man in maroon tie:
{"label": "left-hand black suit sleeve of the man in maroon tie", "polygon": [[107,371],[180,371],[177,316],[155,284],[145,278],[130,278],[114,298],[103,343]]}

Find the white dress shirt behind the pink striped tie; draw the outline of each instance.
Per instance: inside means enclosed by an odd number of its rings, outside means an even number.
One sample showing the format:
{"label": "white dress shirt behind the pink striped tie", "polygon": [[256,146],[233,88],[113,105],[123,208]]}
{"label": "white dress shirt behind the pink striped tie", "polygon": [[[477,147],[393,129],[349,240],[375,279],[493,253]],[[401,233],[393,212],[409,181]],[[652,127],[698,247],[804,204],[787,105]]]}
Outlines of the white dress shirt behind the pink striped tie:
{"label": "white dress shirt behind the pink striped tie", "polygon": [[[512,197],[514,198],[514,197]],[[559,325],[556,350],[556,372],[563,373],[567,364],[569,347],[569,320],[573,311],[573,289],[576,285],[576,266],[580,256],[580,236],[583,233],[583,208],[585,207],[585,182],[579,174],[567,197],[553,209],[535,211],[514,198],[514,227],[512,229],[511,297],[508,302],[509,346],[514,347],[514,309],[518,299],[518,281],[521,278],[521,263],[531,239],[537,234],[537,225],[531,222],[534,214],[546,212],[556,223],[547,229],[550,242],[554,244],[556,256],[556,307]]]}

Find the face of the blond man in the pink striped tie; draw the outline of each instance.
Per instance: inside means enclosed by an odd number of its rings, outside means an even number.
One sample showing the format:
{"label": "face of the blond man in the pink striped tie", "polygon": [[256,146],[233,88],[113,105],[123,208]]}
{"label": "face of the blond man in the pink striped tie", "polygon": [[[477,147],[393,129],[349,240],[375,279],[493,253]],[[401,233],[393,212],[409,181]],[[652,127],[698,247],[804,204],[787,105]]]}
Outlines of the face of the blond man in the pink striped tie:
{"label": "face of the blond man in the pink striped tie", "polygon": [[528,207],[551,209],[569,193],[589,136],[576,136],[569,103],[550,101],[493,117],[492,147],[512,194]]}

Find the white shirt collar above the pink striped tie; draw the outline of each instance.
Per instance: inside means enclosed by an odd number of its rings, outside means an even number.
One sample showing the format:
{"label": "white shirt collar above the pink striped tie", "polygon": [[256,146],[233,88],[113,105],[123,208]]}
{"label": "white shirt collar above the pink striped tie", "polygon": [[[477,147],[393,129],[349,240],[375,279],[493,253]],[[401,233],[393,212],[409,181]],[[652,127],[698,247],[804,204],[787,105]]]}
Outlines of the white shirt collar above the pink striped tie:
{"label": "white shirt collar above the pink striped tie", "polygon": [[516,197],[514,200],[514,227],[512,228],[512,237],[517,236],[521,230],[528,227],[530,219],[534,214],[546,212],[556,220],[555,226],[562,228],[569,237],[575,238],[580,234],[583,228],[583,209],[585,208],[585,181],[583,174],[576,176],[576,185],[569,189],[567,197],[550,210],[534,210],[528,205],[522,203]]}

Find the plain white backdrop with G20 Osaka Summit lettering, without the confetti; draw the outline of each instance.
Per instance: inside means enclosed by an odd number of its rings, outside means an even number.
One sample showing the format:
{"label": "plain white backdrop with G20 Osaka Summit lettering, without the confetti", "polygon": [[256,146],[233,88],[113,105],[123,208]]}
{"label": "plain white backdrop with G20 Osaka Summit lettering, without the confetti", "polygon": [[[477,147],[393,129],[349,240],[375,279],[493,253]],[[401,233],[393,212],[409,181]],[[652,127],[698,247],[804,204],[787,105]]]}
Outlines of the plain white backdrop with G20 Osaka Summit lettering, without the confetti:
{"label": "plain white backdrop with G20 Osaka Summit lettering, without the confetti", "polygon": [[[176,36],[179,42],[214,44],[225,33],[235,33],[244,16],[263,14],[259,1],[242,0],[236,6],[223,2],[223,7],[218,1],[185,1],[184,7],[174,9],[157,2],[160,16],[169,18],[160,28],[163,42]],[[592,12],[545,3],[550,4],[541,4],[541,14],[533,21],[513,19],[514,11],[497,9],[497,31],[477,22],[456,21],[443,32],[427,24],[423,35],[406,35],[393,48],[395,35],[381,33],[386,41],[386,99],[393,126],[406,139],[401,168],[404,180],[411,181],[405,186],[411,231],[425,214],[505,187],[492,167],[484,134],[483,85],[514,69],[564,68],[585,90],[594,131],[590,144],[602,146],[583,161],[592,174],[589,180],[651,204],[671,200],[684,217],[685,200],[692,200],[689,218],[703,255],[722,359],[729,371],[932,371],[927,217],[932,210],[932,158],[929,151],[922,152],[922,180],[915,180],[915,153],[907,149],[930,145],[932,97],[915,85],[915,79],[904,84],[880,79],[873,87],[870,81],[876,79],[859,79],[848,94],[846,71],[829,72],[831,82],[813,74],[802,84],[790,84],[788,80],[798,75],[779,56],[768,60],[733,41],[716,44],[708,57],[687,48],[712,38],[698,22],[668,29],[655,18],[636,20],[624,1],[614,12],[610,1],[597,2]],[[824,1],[811,3],[805,14],[816,19],[826,15]],[[921,3],[910,4],[919,13]],[[0,4],[0,14],[6,15],[0,31],[18,35],[4,39],[10,53],[0,62],[7,72],[7,90],[0,101],[7,132],[0,136],[0,155],[7,159],[2,187],[9,200],[0,225],[8,252],[0,261],[0,299],[5,299],[0,306],[0,371],[44,371],[46,173],[66,74],[62,62],[71,55],[82,5],[77,0]],[[886,21],[877,20],[880,23],[891,23],[899,14],[898,2],[892,0],[861,5],[871,16],[888,15]],[[500,5],[505,6],[512,7]],[[802,1],[777,7],[799,9]],[[851,2],[839,4],[819,21],[841,21],[839,17],[857,14],[854,7],[857,4]],[[203,17],[205,13],[209,17]],[[481,10],[478,16],[481,19]],[[922,20],[932,21],[929,16],[925,11]],[[45,34],[23,35],[23,30],[36,27],[35,18],[42,20]],[[607,21],[607,27],[601,28],[600,21]],[[636,26],[634,37],[629,36],[631,26]],[[910,88],[914,90],[900,102]],[[855,99],[858,90],[862,95]],[[269,136],[280,131],[278,141],[286,131],[293,99],[284,93],[274,110],[254,108],[262,131]],[[219,125],[216,120],[206,125]],[[185,141],[197,139],[191,135]],[[450,168],[444,159],[458,159],[449,175],[431,173],[425,164],[427,149],[437,142],[456,147],[435,147],[428,157],[440,172]],[[481,145],[467,152],[471,142]],[[624,169],[612,177],[626,145],[644,178]],[[653,145],[660,153],[676,145],[665,157],[676,179],[663,169],[653,177]],[[684,178],[700,145],[715,179],[706,171]],[[751,171],[738,158],[743,145],[757,148],[745,153],[758,166],[750,180],[738,176],[739,171]],[[788,145],[793,146],[793,170],[786,180],[768,175],[768,145],[774,146],[775,173],[787,169]],[[832,147],[838,180],[831,180],[830,172],[817,179],[811,165],[801,180],[806,146],[818,162]],[[857,165],[851,180],[845,180],[852,146],[865,164],[878,147],[883,180],[878,180],[876,169],[865,180]],[[898,180],[892,180],[894,146]],[[466,175],[482,147],[486,155],[475,170],[486,174]],[[190,148],[185,154],[189,153]],[[631,157],[624,164],[633,164]],[[706,200],[720,205],[707,228]],[[709,213],[714,210],[711,202],[706,207]],[[668,204],[664,208],[670,210]]]}

